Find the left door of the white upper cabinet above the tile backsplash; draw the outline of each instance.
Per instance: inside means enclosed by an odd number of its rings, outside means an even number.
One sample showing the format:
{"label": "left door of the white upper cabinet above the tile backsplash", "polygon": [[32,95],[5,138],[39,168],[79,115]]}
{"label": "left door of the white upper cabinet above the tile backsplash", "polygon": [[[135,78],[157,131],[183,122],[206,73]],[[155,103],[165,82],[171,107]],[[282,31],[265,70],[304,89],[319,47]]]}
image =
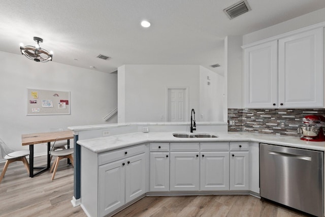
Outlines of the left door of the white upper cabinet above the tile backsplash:
{"label": "left door of the white upper cabinet above the tile backsplash", "polygon": [[277,41],[272,41],[244,50],[246,108],[278,106],[277,46]]}

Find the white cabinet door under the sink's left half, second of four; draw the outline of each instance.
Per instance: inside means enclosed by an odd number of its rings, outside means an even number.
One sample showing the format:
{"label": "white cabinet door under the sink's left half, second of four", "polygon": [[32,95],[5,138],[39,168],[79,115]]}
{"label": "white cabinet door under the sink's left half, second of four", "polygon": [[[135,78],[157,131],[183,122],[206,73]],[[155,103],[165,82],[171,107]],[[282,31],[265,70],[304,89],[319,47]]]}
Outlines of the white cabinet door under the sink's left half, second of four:
{"label": "white cabinet door under the sink's left half, second of four", "polygon": [[199,191],[200,156],[197,152],[171,152],[170,190]]}

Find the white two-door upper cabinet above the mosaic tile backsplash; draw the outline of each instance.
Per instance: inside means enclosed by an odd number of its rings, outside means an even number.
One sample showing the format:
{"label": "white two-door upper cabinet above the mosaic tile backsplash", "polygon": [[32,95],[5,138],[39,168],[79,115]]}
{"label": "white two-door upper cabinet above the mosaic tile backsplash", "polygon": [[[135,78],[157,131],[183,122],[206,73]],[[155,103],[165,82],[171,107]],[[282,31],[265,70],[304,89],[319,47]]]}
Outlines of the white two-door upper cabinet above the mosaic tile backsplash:
{"label": "white two-door upper cabinet above the mosaic tile backsplash", "polygon": [[323,28],[244,49],[245,108],[323,107]]}

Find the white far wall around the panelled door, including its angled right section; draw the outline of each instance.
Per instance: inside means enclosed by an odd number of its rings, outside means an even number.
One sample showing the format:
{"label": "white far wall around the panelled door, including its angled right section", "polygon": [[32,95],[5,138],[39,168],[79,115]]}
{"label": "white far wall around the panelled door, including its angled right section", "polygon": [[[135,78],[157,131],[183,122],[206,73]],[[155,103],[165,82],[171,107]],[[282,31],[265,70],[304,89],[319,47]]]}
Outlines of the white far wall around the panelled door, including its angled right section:
{"label": "white far wall around the panelled door, including its angled right section", "polygon": [[[189,111],[194,108],[197,121],[222,121],[223,77],[200,66],[185,65],[125,65],[118,68],[118,122],[159,122],[166,119],[167,88],[188,87]],[[200,73],[215,79],[213,89],[204,89]],[[206,77],[205,77],[206,78]],[[124,81],[122,81],[124,80]],[[123,89],[124,88],[124,89]],[[220,89],[220,91],[217,91]],[[205,96],[207,95],[207,96]],[[205,97],[204,99],[201,99]],[[210,98],[211,97],[211,98]],[[213,99],[212,99],[213,98]],[[200,103],[206,106],[200,106]],[[120,105],[124,104],[124,108]],[[201,109],[204,108],[202,113]],[[218,110],[221,110],[220,111]],[[199,114],[203,114],[201,119]],[[221,115],[222,114],[222,115]],[[189,115],[188,115],[189,116]],[[187,117],[189,121],[189,117]]]}

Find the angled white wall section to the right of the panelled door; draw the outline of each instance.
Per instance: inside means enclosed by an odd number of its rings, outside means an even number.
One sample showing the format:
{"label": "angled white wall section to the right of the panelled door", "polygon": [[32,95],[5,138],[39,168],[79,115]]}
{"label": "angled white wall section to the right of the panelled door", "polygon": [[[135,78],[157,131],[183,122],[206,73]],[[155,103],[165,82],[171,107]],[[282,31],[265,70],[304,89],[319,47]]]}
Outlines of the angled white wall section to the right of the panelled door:
{"label": "angled white wall section to the right of the panelled door", "polygon": [[200,121],[223,120],[223,96],[224,77],[200,66]]}

